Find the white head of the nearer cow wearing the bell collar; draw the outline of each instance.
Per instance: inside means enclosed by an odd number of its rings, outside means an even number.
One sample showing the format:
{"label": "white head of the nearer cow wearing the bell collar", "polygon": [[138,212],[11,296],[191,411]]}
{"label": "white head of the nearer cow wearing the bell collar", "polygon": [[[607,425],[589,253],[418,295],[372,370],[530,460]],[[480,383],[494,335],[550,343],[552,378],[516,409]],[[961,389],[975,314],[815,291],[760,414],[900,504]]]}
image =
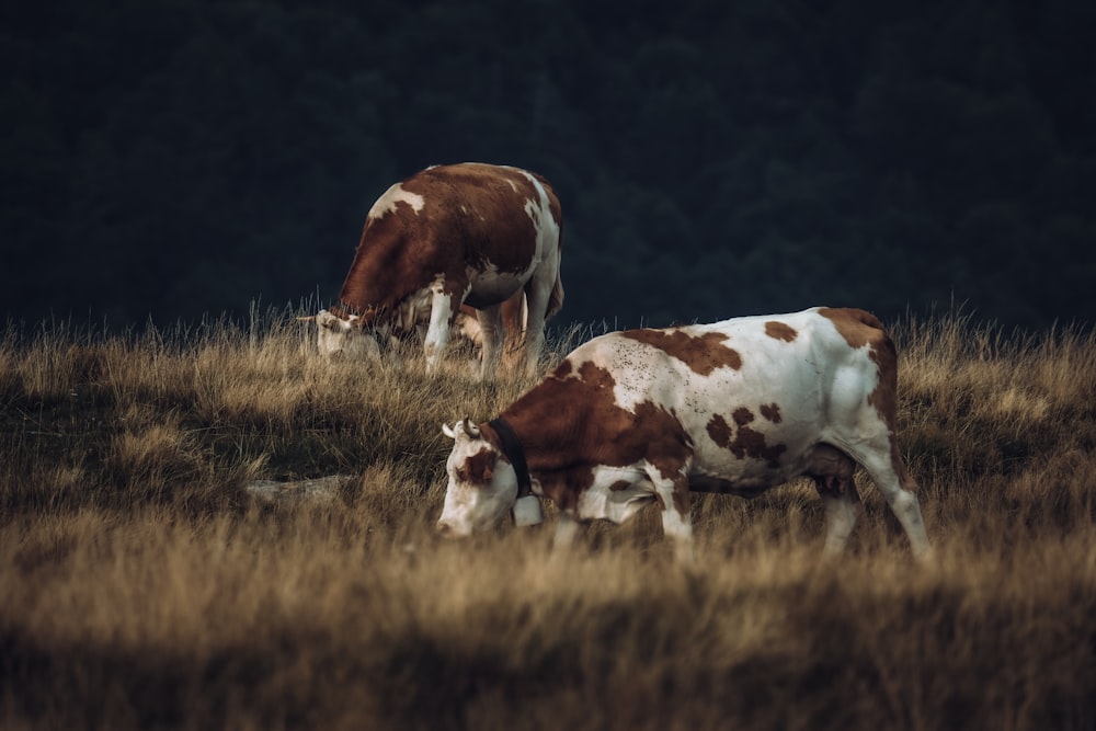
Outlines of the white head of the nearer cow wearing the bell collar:
{"label": "white head of the nearer cow wearing the bell collar", "polygon": [[442,432],[453,439],[453,452],[445,462],[449,484],[437,529],[454,537],[488,530],[514,506],[517,475],[467,418],[452,429],[443,424]]}

